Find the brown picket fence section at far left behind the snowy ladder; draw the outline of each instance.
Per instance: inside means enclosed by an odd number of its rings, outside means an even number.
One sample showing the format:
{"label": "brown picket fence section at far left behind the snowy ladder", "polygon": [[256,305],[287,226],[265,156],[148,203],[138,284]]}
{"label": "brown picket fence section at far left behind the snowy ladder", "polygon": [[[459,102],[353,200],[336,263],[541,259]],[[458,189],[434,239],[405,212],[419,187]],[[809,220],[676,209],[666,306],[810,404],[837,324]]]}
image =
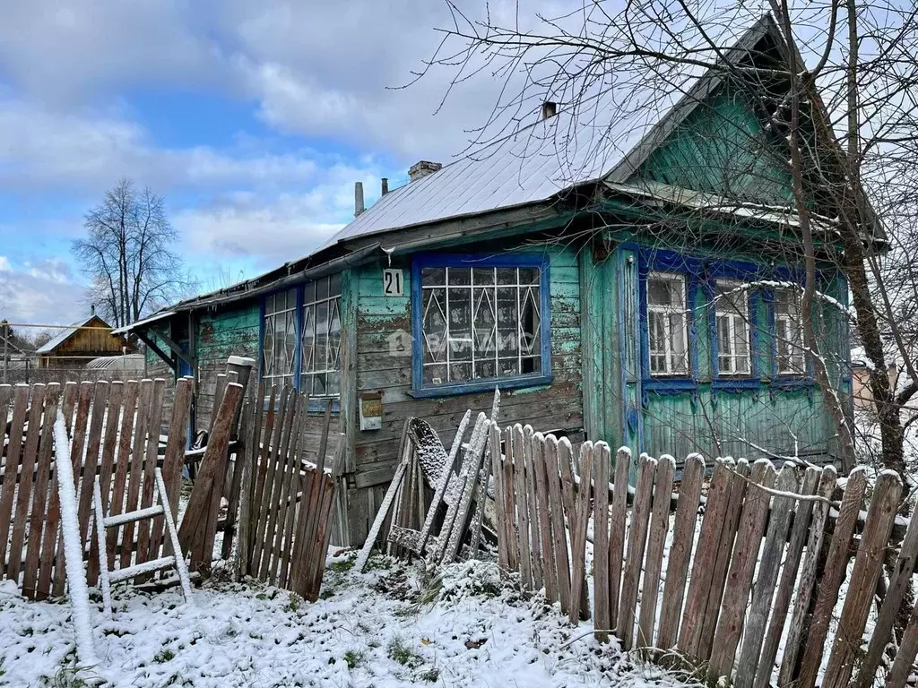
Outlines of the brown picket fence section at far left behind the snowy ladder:
{"label": "brown picket fence section at far left behind the snowy ladder", "polygon": [[[71,438],[78,527],[88,560],[87,578],[98,577],[98,550],[92,538],[96,475],[106,509],[116,515],[152,504],[154,469],[162,476],[173,516],[177,515],[191,403],[187,380],[176,386],[171,427],[183,428],[158,458],[163,380],[0,385],[0,572],[33,599],[64,591],[61,505],[51,427],[60,408]],[[135,532],[136,527],[136,532]],[[162,516],[109,530],[109,569],[158,559],[171,553],[163,538]],[[161,549],[166,550],[161,554]]]}

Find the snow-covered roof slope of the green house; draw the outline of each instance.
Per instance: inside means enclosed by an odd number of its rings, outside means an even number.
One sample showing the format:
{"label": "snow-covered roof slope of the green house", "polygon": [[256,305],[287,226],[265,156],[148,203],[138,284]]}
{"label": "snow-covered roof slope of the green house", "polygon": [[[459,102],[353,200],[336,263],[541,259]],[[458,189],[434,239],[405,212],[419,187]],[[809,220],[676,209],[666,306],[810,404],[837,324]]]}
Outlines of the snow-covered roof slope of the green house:
{"label": "snow-covered roof slope of the green house", "polygon": [[[773,27],[765,15],[752,26],[722,27],[723,35],[712,40],[722,45],[733,37],[734,60]],[[624,182],[717,83],[702,79],[707,72],[698,64],[686,65],[682,72],[667,73],[668,89],[644,83],[639,93],[633,83],[640,76],[623,79],[627,85],[580,103],[577,112],[561,110],[389,192],[319,250],[379,232],[549,202],[601,177]]]}

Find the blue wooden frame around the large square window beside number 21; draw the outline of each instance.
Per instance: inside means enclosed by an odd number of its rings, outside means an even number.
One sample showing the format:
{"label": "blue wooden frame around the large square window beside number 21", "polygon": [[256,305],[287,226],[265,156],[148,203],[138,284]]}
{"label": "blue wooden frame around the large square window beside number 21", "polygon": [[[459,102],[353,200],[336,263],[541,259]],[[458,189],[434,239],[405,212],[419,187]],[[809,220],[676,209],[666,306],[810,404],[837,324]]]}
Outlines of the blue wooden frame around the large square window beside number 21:
{"label": "blue wooden frame around the large square window beside number 21", "polygon": [[[500,389],[538,387],[552,383],[550,257],[544,253],[418,253],[411,261],[411,391],[416,398],[472,394]],[[470,383],[423,384],[423,323],[421,322],[421,270],[423,268],[539,268],[539,300],[542,309],[542,374],[517,375],[475,380]]]}

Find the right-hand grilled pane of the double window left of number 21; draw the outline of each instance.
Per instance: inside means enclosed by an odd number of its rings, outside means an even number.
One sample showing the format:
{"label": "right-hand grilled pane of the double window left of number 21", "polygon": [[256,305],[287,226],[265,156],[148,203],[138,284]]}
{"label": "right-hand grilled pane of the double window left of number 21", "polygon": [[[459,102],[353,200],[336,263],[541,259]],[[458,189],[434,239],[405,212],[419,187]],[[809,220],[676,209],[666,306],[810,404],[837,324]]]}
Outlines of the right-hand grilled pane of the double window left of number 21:
{"label": "right-hand grilled pane of the double window left of number 21", "polygon": [[337,396],[341,391],[341,275],[303,287],[303,346],[299,391]]}

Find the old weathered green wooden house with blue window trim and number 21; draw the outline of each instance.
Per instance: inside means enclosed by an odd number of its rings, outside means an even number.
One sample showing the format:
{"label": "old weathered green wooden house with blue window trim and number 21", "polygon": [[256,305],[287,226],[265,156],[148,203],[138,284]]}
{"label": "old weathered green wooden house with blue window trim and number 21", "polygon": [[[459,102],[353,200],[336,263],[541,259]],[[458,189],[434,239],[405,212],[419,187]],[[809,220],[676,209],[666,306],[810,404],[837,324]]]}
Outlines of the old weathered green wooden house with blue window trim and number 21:
{"label": "old weathered green wooden house with blue window trim and number 21", "polygon": [[[734,51],[765,74],[779,40],[763,17]],[[577,121],[547,105],[474,157],[415,165],[307,258],[122,331],[195,375],[198,423],[230,354],[260,361],[265,383],[333,400],[351,542],[385,493],[405,418],[448,444],[495,386],[501,426],[626,445],[633,461],[833,461],[833,420],[799,346],[789,173],[771,162],[786,144],[735,85],[703,75],[666,114],[625,122],[621,150],[571,150]],[[559,157],[565,137],[572,154]],[[820,291],[845,304],[844,276],[822,254],[819,268]],[[845,319],[817,310],[830,366],[847,361]],[[846,369],[831,372],[848,396]]]}

